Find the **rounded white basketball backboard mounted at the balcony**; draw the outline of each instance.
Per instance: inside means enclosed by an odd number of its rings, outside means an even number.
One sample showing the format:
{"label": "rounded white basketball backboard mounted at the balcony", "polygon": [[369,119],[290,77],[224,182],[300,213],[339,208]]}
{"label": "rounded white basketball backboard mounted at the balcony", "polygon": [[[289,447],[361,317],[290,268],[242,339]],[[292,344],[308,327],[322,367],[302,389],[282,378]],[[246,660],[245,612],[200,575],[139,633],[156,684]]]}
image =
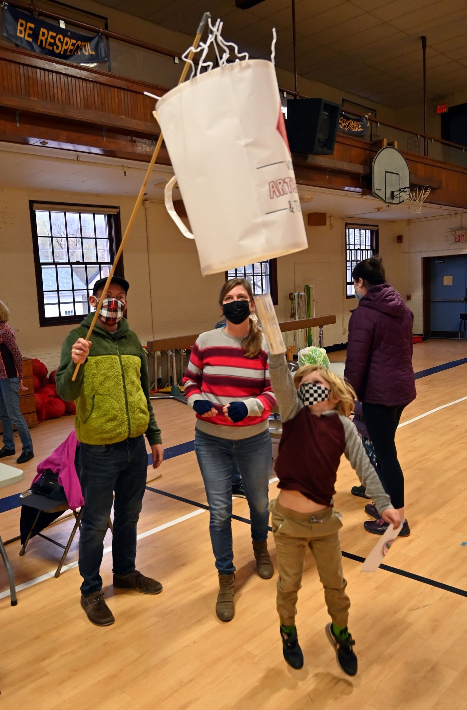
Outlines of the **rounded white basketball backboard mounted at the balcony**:
{"label": "rounded white basketball backboard mounted at the balcony", "polygon": [[376,153],[371,168],[373,195],[388,204],[404,202],[410,190],[410,170],[397,148],[386,146]]}

